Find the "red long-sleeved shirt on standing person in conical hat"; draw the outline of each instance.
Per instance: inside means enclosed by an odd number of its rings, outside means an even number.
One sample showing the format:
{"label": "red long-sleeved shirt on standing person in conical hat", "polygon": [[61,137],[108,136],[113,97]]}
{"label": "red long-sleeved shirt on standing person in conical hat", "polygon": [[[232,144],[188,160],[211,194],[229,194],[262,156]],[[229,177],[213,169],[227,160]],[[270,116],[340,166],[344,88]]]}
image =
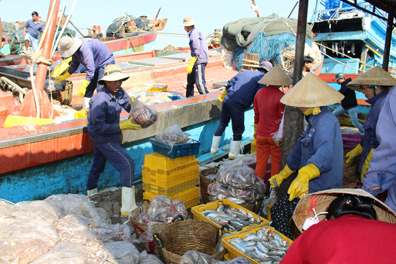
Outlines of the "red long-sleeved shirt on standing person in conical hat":
{"label": "red long-sleeved shirt on standing person in conical hat", "polygon": [[285,105],[280,102],[284,94],[277,86],[261,88],[254,97],[254,123],[258,124],[257,135],[272,137],[279,129]]}

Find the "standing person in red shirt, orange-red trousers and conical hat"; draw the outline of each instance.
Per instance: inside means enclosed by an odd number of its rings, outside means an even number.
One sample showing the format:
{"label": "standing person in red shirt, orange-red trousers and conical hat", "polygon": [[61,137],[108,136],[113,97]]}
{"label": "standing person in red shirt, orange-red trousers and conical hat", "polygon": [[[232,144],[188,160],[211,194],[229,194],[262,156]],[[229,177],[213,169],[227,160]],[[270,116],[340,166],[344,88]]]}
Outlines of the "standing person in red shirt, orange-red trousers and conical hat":
{"label": "standing person in red shirt, orange-red trousers and conical hat", "polygon": [[278,146],[273,135],[279,130],[285,105],[280,102],[284,93],[282,86],[292,85],[292,79],[275,65],[258,81],[267,85],[254,97],[254,138],[256,139],[256,175],[264,179],[268,158],[271,155],[271,176],[278,174],[281,167],[282,147]]}

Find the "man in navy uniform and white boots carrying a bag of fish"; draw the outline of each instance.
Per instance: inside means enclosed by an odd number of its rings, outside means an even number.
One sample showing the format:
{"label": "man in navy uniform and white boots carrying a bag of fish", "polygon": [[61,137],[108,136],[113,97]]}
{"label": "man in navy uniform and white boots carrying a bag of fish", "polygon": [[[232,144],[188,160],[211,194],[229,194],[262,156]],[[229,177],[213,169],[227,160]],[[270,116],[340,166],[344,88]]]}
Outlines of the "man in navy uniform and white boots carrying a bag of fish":
{"label": "man in navy uniform and white boots carrying a bag of fish", "polygon": [[104,68],[103,78],[98,82],[102,89],[90,101],[87,116],[88,133],[94,144],[94,161],[88,175],[88,197],[98,193],[99,175],[104,171],[106,160],[120,172],[122,187],[121,214],[128,215],[136,208],[133,178],[135,165],[133,159],[121,148],[121,130],[137,130],[142,127],[131,122],[132,117],[120,123],[122,108],[131,110],[135,99],[122,89],[121,84],[129,78],[121,72],[120,66],[110,64]]}

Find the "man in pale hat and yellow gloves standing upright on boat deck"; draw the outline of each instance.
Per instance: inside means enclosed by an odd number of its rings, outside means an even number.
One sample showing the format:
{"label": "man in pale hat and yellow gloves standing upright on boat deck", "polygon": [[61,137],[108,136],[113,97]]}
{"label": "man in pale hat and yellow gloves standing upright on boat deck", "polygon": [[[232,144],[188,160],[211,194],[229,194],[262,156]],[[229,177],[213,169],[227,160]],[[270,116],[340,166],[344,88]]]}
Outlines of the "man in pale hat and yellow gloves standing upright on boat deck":
{"label": "man in pale hat and yellow gloves standing upright on boat deck", "polygon": [[194,84],[197,85],[199,94],[207,94],[205,81],[205,66],[209,61],[209,50],[205,36],[194,26],[197,25],[192,17],[183,20],[184,30],[189,34],[191,59],[187,66],[187,91],[186,97],[194,96]]}

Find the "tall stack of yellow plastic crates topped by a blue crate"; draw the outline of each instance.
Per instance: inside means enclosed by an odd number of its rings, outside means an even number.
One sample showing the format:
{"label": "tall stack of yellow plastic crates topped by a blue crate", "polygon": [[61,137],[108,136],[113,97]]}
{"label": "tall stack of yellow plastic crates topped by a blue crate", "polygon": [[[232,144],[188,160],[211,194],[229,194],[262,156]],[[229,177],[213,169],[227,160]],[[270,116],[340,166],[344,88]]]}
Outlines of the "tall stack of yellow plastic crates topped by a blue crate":
{"label": "tall stack of yellow plastic crates topped by a blue crate", "polygon": [[[150,142],[153,144],[154,151],[161,152],[168,157],[157,152],[145,156],[145,163],[142,167],[143,198],[151,201],[157,195],[164,195],[172,200],[183,201],[186,209],[198,205],[199,160],[195,157],[195,151],[193,151],[194,155],[182,156],[185,153],[190,154],[191,150],[185,152],[183,148],[172,148],[170,151],[167,149],[163,151],[161,145],[163,143],[158,144],[159,142],[153,142],[152,139]],[[162,147],[158,149],[158,145]],[[176,154],[177,157],[174,157],[176,150],[179,150],[179,155]]]}

